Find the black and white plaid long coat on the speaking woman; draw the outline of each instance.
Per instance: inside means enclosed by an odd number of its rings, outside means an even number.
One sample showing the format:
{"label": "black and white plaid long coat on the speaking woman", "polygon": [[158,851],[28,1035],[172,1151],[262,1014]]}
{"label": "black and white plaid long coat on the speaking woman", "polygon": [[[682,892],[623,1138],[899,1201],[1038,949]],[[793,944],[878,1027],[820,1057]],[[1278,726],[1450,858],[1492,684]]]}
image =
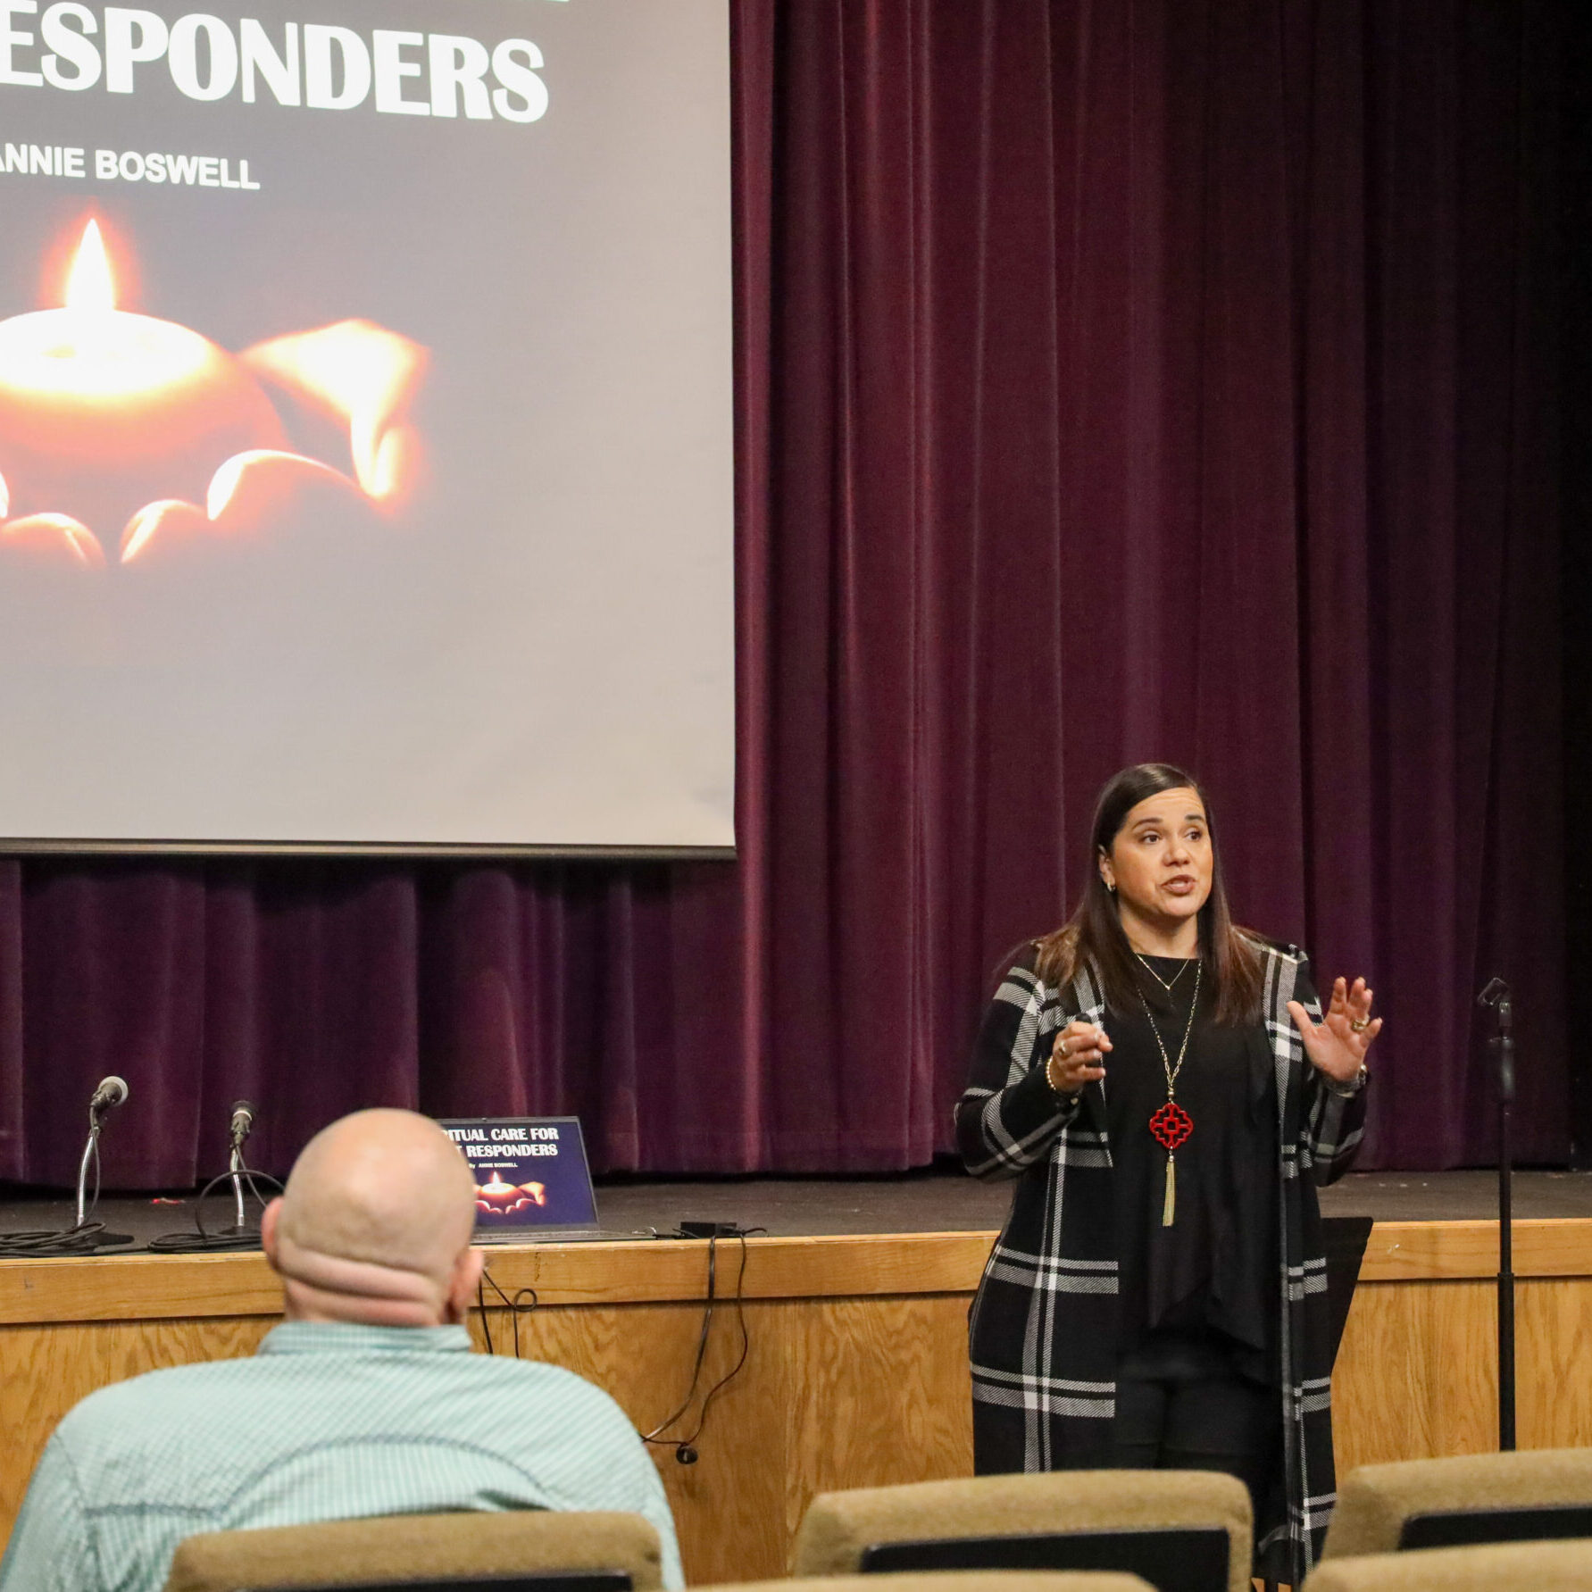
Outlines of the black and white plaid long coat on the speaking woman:
{"label": "black and white plaid long coat on the speaking woman", "polygon": [[[1282,1348],[1282,1485],[1256,1522],[1258,1557],[1299,1586],[1321,1552],[1336,1500],[1326,1256],[1315,1184],[1348,1170],[1364,1091],[1334,1094],[1305,1060],[1288,1001],[1320,1022],[1309,965],[1261,942],[1264,1038],[1277,1075],[1282,1183],[1277,1309]],[[957,1103],[957,1145],[977,1178],[1017,1178],[970,1317],[979,1471],[1110,1465],[1116,1412],[1116,1223],[1105,1083],[1068,1100],[1044,1063],[1073,1019],[1100,1022],[1087,973],[1044,984],[1028,952],[1003,979]],[[1108,1079],[1106,1079],[1108,1083]]]}

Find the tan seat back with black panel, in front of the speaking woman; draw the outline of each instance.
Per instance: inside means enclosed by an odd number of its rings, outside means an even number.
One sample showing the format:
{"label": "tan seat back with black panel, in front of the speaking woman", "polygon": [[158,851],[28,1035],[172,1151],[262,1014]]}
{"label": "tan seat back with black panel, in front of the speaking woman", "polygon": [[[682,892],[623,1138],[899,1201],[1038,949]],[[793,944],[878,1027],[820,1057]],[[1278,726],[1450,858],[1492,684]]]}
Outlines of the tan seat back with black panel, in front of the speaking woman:
{"label": "tan seat back with black panel, in front of the speaking woman", "polygon": [[1051,1471],[820,1493],[794,1574],[1127,1570],[1165,1592],[1248,1592],[1250,1495],[1215,1471]]}

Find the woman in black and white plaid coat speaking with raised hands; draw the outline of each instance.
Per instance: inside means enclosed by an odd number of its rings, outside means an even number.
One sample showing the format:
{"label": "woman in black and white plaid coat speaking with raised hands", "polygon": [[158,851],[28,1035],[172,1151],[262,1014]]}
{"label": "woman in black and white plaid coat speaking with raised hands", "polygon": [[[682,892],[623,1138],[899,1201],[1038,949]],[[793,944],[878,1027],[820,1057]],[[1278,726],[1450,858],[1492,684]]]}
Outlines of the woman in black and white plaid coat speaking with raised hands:
{"label": "woman in black and white plaid coat speaking with raised hands", "polygon": [[1323,1019],[1304,955],[1234,927],[1188,774],[1106,785],[1083,901],[1001,981],[957,1105],[968,1170],[1019,1178],[971,1315],[979,1473],[1227,1471],[1304,1581],[1334,1498],[1315,1184],[1380,1027],[1364,979]]}

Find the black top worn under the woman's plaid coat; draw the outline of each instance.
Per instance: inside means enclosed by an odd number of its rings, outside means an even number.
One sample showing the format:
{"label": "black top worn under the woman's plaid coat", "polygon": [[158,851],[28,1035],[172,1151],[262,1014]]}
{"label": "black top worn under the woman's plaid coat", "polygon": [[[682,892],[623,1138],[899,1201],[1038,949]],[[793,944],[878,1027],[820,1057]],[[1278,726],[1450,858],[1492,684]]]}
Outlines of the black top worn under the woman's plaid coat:
{"label": "black top worn under the woman's plaid coat", "polygon": [[[1194,995],[1194,962],[1148,957],[1169,995],[1140,970],[1140,989],[1176,1067]],[[1114,1165],[1121,1347],[1157,1329],[1216,1331],[1242,1345],[1239,1364],[1272,1380],[1277,1348],[1277,1084],[1261,1024],[1218,1027],[1200,981],[1199,1011],[1176,1102],[1194,1130],[1176,1149],[1176,1210],[1162,1226],[1167,1153],[1149,1118],[1167,1103],[1167,1076],[1143,1006],[1110,1013],[1105,1030],[1106,1130]]]}

